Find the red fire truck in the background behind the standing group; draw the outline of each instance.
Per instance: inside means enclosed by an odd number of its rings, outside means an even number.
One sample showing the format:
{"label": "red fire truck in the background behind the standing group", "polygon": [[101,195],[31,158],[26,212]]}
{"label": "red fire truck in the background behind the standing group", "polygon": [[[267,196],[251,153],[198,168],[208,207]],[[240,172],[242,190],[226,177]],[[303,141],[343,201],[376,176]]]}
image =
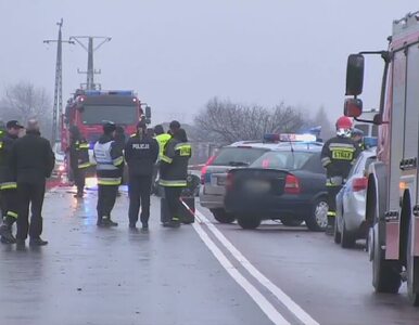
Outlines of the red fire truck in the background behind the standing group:
{"label": "red fire truck in the background behind the standing group", "polygon": [[[151,109],[142,104],[134,91],[126,90],[82,90],[78,89],[68,100],[61,123],[61,147],[69,145],[69,130],[76,126],[89,142],[90,162],[94,166],[92,148],[103,133],[104,121],[123,126],[127,135],[136,132],[139,120],[150,122]],[[67,168],[68,169],[68,168]]]}

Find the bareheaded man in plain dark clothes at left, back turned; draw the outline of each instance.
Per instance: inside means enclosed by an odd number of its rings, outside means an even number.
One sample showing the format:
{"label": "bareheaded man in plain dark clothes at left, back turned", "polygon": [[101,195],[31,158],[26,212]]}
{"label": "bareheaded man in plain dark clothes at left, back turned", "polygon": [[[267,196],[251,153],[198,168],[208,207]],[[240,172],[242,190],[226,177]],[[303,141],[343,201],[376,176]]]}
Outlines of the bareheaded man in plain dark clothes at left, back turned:
{"label": "bareheaded man in plain dark clothes at left, back turned", "polygon": [[[42,204],[46,192],[46,179],[51,176],[55,157],[50,142],[39,132],[38,121],[30,119],[26,135],[17,139],[12,147],[10,168],[17,183],[16,243],[24,245],[29,233],[29,245],[47,245],[42,233]],[[29,225],[29,206],[31,211]]]}

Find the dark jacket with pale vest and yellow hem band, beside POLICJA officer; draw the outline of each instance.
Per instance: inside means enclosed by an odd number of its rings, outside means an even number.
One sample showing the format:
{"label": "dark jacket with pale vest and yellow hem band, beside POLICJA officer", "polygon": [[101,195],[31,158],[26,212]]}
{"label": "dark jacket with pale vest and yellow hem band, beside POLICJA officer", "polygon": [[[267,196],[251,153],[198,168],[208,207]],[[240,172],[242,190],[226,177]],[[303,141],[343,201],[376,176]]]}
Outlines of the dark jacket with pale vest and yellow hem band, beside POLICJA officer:
{"label": "dark jacket with pale vest and yellow hem band, beside POLICJA officer", "polygon": [[103,134],[94,144],[98,184],[119,185],[122,181],[120,166],[124,166],[122,148],[111,135]]}

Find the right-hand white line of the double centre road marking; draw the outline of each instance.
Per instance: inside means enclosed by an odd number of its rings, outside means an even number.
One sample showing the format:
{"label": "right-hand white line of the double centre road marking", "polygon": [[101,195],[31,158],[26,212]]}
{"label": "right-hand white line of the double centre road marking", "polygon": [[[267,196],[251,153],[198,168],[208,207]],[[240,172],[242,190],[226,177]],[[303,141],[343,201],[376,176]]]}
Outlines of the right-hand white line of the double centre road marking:
{"label": "right-hand white line of the double centre road marking", "polygon": [[230,253],[239,261],[239,263],[247,270],[247,272],[257,280],[265,288],[267,288],[277,299],[303,324],[319,325],[309,314],[307,314],[296,302],[294,302],[285,292],[277,287],[269,278],[262,274],[231,243],[225,235],[213,224],[210,220],[195,209],[202,223],[205,223],[214,236],[221,243],[221,245],[230,251]]}

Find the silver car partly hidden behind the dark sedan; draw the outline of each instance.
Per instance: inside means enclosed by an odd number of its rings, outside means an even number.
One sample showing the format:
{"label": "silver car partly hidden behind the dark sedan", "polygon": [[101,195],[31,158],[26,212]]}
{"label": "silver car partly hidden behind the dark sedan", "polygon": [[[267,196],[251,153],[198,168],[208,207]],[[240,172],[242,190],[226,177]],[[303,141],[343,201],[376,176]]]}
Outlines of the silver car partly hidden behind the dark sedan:
{"label": "silver car partly hidden behind the dark sedan", "polygon": [[247,167],[272,146],[278,144],[242,141],[221,147],[217,155],[210,158],[201,172],[200,204],[211,210],[215,220],[221,223],[236,220],[224,208],[228,171]]}

